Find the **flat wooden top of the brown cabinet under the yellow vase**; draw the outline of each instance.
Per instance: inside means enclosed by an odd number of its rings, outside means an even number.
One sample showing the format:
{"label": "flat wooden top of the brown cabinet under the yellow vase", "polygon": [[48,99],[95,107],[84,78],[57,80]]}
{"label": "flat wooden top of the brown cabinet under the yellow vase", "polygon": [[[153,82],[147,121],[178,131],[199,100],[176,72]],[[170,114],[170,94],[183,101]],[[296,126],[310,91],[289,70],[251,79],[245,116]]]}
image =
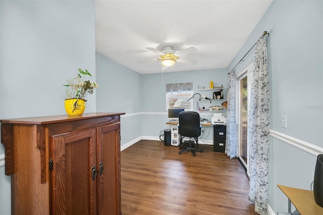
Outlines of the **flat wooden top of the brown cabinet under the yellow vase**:
{"label": "flat wooden top of the brown cabinet under the yellow vase", "polygon": [[19,119],[7,119],[0,120],[0,123],[10,123],[10,124],[31,124],[31,125],[46,125],[52,123],[62,123],[67,121],[78,121],[85,119],[95,119],[101,117],[111,117],[117,115],[124,115],[125,113],[90,113],[83,114],[82,116],[48,116],[48,117],[31,117],[31,118],[19,118]]}

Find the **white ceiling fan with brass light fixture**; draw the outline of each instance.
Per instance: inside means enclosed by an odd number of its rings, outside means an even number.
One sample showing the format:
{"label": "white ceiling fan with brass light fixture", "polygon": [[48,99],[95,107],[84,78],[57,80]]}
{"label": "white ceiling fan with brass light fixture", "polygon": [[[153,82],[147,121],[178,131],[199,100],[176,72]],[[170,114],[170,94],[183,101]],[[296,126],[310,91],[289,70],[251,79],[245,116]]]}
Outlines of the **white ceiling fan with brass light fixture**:
{"label": "white ceiling fan with brass light fixture", "polygon": [[164,50],[162,50],[162,51],[159,51],[156,48],[151,48],[151,47],[147,47],[147,49],[160,55],[160,58],[139,61],[138,63],[158,60],[158,61],[161,61],[161,64],[165,67],[173,66],[175,64],[175,62],[179,62],[182,64],[191,64],[191,65],[196,63],[196,61],[184,59],[181,57],[183,55],[187,55],[189,53],[196,52],[197,49],[194,47],[186,48],[186,49],[179,50],[179,51],[175,51],[173,49],[173,47],[171,47],[171,46],[164,47]]}

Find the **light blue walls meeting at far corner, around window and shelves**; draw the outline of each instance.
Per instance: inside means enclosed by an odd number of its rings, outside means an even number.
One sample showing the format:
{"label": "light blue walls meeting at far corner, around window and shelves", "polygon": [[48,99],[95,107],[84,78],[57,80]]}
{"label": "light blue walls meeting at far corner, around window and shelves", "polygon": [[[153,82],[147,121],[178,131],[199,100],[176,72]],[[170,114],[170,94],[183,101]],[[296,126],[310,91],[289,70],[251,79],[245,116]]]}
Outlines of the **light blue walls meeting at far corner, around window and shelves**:
{"label": "light blue walls meeting at far corner, around window and shelves", "polygon": [[[228,71],[219,69],[140,75],[96,53],[96,77],[100,85],[96,93],[96,111],[126,113],[121,117],[121,145],[125,145],[137,138],[158,139],[160,131],[170,128],[166,125],[169,121],[166,110],[167,83],[193,82],[194,93],[212,97],[212,91],[198,91],[197,86],[208,88],[212,80],[214,86],[222,84],[226,94]],[[200,101],[200,107],[221,105],[221,102]],[[201,113],[201,117],[209,120],[211,116],[212,113]],[[204,139],[212,140],[211,128],[204,127]]]}

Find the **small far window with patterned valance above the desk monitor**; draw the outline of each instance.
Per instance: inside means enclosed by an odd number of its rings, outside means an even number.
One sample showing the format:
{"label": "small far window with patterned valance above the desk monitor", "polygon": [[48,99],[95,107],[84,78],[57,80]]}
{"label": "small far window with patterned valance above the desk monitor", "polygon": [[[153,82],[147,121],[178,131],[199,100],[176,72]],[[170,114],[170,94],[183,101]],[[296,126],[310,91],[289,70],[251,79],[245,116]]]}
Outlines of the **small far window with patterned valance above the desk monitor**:
{"label": "small far window with patterned valance above the desk monitor", "polygon": [[166,84],[166,110],[181,108],[193,110],[193,99],[187,101],[193,95],[193,83]]}

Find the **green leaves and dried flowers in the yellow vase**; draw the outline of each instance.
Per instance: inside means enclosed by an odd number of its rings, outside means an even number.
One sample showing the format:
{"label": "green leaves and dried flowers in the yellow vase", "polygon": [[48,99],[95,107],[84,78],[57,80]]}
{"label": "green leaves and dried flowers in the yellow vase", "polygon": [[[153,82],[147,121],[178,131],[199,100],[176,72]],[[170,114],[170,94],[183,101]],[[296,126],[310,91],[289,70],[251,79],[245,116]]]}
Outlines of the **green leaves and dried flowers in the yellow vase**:
{"label": "green leaves and dried flowers in the yellow vase", "polygon": [[89,71],[85,70],[84,72],[83,70],[79,69],[79,73],[76,77],[67,80],[68,84],[64,85],[66,89],[67,99],[79,98],[87,101],[86,96],[88,94],[92,94],[93,90],[99,87],[99,85],[95,82],[90,82],[89,80],[84,81],[84,77],[86,75],[92,77]]}

